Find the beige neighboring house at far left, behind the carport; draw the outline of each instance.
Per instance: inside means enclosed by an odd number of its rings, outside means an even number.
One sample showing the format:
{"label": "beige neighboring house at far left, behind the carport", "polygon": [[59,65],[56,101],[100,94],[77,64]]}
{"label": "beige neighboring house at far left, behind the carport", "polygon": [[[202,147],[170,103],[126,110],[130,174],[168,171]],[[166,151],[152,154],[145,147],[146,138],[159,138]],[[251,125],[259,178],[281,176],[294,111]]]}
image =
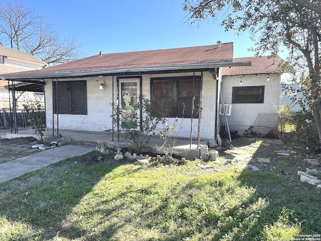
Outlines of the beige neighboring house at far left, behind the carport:
{"label": "beige neighboring house at far left, behind the carport", "polygon": [[[36,57],[16,49],[0,46],[0,75],[8,73],[23,72],[28,70],[42,69],[46,63]],[[11,82],[9,84],[12,84]],[[22,85],[21,83],[17,85]],[[0,108],[9,108],[9,92],[5,89],[8,85],[8,80],[0,80]],[[40,91],[41,88],[27,88],[31,87],[30,84],[24,84],[26,90]],[[36,86],[34,86],[36,87]],[[43,92],[43,91],[41,91]],[[19,98],[18,98],[19,97]],[[29,100],[34,97],[34,93],[31,92],[16,92],[16,98],[18,101]],[[10,96],[12,98],[12,96]],[[20,105],[21,106],[21,105]]]}

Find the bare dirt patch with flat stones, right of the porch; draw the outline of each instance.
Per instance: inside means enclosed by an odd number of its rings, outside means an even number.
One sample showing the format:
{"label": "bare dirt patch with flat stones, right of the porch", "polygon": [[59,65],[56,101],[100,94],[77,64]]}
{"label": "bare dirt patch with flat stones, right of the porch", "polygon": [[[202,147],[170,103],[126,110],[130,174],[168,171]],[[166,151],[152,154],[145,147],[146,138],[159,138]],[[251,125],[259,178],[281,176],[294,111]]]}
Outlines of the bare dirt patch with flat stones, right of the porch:
{"label": "bare dirt patch with flat stones, right of the porch", "polygon": [[249,165],[286,177],[290,182],[299,180],[297,171],[321,170],[321,166],[304,161],[306,158],[320,159],[320,154],[309,153],[304,147],[280,140],[240,138],[223,145],[218,151],[220,164],[217,168],[220,170]]}

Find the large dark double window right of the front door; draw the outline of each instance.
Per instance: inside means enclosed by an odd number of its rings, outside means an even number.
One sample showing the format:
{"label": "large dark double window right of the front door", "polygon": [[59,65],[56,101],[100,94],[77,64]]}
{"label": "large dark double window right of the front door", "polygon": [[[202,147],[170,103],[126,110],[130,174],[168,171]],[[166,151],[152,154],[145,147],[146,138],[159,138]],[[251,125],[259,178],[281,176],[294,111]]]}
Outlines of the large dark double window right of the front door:
{"label": "large dark double window right of the front door", "polygon": [[[201,77],[151,78],[153,105],[161,112],[168,111],[170,117],[191,117],[199,114]],[[194,109],[193,108],[194,98]]]}

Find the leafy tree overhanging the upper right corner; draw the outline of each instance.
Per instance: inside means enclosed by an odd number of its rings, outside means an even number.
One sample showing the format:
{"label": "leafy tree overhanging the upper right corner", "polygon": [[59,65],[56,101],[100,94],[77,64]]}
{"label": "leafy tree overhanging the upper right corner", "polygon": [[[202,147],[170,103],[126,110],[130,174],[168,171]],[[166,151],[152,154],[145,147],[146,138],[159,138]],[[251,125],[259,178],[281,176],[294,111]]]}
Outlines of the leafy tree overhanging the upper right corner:
{"label": "leafy tree overhanging the upper right corner", "polygon": [[257,55],[275,55],[283,45],[289,51],[282,71],[291,71],[301,94],[313,113],[321,140],[320,105],[320,0],[185,0],[184,10],[191,23],[202,23],[224,13],[226,31],[249,31]]}

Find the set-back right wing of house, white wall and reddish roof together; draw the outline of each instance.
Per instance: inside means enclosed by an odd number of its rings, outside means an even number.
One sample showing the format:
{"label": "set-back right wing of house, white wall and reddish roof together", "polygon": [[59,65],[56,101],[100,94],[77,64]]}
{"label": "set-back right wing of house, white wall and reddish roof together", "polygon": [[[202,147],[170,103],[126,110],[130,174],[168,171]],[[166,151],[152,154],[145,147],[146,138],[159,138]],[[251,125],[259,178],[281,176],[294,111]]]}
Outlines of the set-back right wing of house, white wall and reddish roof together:
{"label": "set-back right wing of house, white wall and reddish roof together", "polygon": [[[279,56],[234,58],[233,62],[252,63],[251,66],[223,68],[222,96],[230,104],[227,116],[230,131],[243,136],[249,127],[265,135],[277,127],[280,102]],[[224,119],[222,119],[224,123]]]}

